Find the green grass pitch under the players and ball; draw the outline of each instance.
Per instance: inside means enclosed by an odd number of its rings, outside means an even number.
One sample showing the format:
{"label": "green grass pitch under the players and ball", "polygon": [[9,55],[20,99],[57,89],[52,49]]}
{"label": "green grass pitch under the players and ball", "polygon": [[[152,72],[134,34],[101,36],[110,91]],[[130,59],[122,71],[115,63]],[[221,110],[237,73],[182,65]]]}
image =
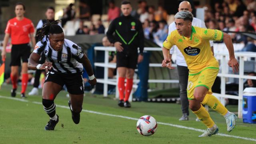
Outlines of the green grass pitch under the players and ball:
{"label": "green grass pitch under the players and ball", "polygon": [[[181,116],[180,105],[167,103],[132,102],[132,108],[119,108],[113,98],[102,95],[86,95],[78,125],[74,124],[68,108],[66,92],[60,92],[55,103],[60,121],[54,131],[45,131],[48,115],[41,104],[41,96],[28,96],[22,100],[17,94],[10,97],[11,86],[2,86],[0,90],[0,144],[252,144],[256,143],[256,125],[237,122],[232,132],[226,131],[225,119],[210,110],[212,119],[225,136],[214,135],[198,138],[202,132],[178,128],[179,126],[204,130],[201,122],[190,112],[189,121],[178,121]],[[31,90],[28,87],[27,92]],[[18,92],[20,89],[18,89]],[[228,106],[237,112],[237,106]],[[94,113],[92,113],[94,112]],[[100,113],[95,113],[100,112]],[[105,114],[105,115],[103,115]],[[111,114],[111,115],[106,115]],[[151,115],[158,122],[156,134],[142,136],[136,130],[136,120],[143,115]],[[120,116],[126,116],[121,118]],[[130,118],[131,117],[131,118]],[[128,119],[130,118],[130,119]],[[169,125],[164,125],[169,124]],[[179,125],[174,127],[170,124]],[[238,136],[239,138],[227,137]],[[244,140],[242,138],[251,138]]]}

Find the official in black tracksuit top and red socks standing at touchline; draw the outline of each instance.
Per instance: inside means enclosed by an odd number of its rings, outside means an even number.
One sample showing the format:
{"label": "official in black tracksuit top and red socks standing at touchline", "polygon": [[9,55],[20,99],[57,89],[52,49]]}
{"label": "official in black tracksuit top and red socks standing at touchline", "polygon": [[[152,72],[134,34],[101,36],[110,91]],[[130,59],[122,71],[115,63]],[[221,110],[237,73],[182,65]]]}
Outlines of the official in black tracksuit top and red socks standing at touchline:
{"label": "official in black tracksuit top and red socks standing at touchline", "polygon": [[[111,22],[107,37],[117,51],[118,105],[130,108],[128,99],[132,90],[134,69],[143,60],[144,33],[141,22],[130,15],[132,6],[129,1],[122,2],[121,10],[123,15]],[[140,48],[139,54],[138,47]],[[124,86],[125,78],[126,86]]]}

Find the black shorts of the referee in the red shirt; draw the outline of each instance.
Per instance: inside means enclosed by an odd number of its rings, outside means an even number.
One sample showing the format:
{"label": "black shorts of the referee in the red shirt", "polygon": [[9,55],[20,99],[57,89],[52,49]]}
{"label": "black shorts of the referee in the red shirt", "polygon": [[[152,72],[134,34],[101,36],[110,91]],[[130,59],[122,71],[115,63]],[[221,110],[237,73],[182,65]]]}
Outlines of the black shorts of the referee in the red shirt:
{"label": "black shorts of the referee in the red shirt", "polygon": [[30,56],[30,45],[27,44],[13,44],[11,50],[10,66],[20,66],[20,59],[22,62],[28,62]]}

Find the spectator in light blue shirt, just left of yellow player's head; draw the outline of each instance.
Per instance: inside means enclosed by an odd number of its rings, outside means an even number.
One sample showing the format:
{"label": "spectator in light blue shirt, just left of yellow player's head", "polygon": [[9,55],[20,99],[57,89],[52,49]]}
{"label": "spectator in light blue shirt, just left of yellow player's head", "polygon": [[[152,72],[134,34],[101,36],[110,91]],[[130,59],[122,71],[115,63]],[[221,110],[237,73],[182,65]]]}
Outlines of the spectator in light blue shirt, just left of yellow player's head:
{"label": "spectator in light blue shirt, just left of yellow player's head", "polygon": [[159,28],[154,34],[154,42],[156,42],[157,44],[161,43],[162,46],[162,42],[166,40],[168,36],[168,26],[166,25],[166,22],[164,20],[161,20],[158,24]]}

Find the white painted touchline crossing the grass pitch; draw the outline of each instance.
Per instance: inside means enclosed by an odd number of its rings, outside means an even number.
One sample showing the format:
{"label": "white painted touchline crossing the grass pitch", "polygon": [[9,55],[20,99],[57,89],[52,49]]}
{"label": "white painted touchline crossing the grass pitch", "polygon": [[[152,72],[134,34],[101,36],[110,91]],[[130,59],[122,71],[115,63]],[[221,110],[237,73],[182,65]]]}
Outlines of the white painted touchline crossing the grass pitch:
{"label": "white painted touchline crossing the grass pitch", "polygon": [[[24,99],[20,99],[20,98],[12,98],[12,97],[6,97],[6,96],[0,96],[0,98],[6,98],[6,99],[11,99],[11,100],[18,100],[21,102],[30,102],[28,100],[24,100]],[[42,104],[42,102],[32,102],[34,104]],[[57,107],[60,108],[66,108],[69,109],[68,106],[62,106],[62,105],[58,105],[56,104]],[[100,114],[100,115],[104,115],[104,116],[113,116],[113,117],[118,117],[118,118],[126,118],[129,120],[138,120],[138,118],[132,118],[132,117],[128,117],[128,116],[121,116],[121,115],[115,115],[115,114],[107,114],[107,113],[102,113],[102,112],[96,112],[96,111],[92,111],[92,110],[82,110],[83,112],[88,112],[88,113],[92,113],[92,114]],[[166,125],[166,126],[173,126],[176,128],[184,128],[184,129],[188,129],[188,130],[194,130],[197,132],[204,132],[204,130],[198,129],[198,128],[191,128],[191,127],[186,127],[186,126],[181,126],[178,124],[169,124],[169,123],[164,123],[164,122],[157,122],[158,124],[162,124],[162,125]],[[233,136],[233,135],[229,135],[229,134],[222,134],[222,133],[218,133],[217,135],[219,136],[226,136],[226,137],[231,137],[231,138],[238,138],[238,139],[243,139],[243,140],[249,140],[249,141],[254,141],[256,142],[255,138],[246,138],[246,137],[242,137],[242,136]]]}

